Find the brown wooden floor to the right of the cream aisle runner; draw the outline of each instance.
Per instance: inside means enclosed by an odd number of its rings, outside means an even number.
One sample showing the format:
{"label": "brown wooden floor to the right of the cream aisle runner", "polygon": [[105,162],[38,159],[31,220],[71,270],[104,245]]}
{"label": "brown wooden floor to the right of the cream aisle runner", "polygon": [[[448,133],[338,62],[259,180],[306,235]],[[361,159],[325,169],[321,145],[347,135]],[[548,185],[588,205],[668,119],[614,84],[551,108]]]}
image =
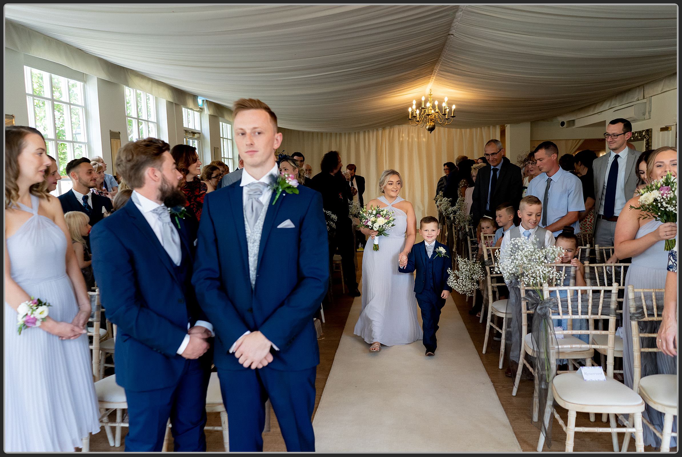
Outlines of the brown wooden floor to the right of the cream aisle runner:
{"label": "brown wooden floor to the right of the cream aisle runner", "polygon": [[[511,423],[511,428],[514,429],[514,434],[516,434],[516,439],[518,440],[521,449],[524,452],[535,452],[537,447],[537,439],[540,436],[540,430],[537,428],[533,422],[531,422],[531,405],[533,403],[533,381],[531,380],[521,380],[518,387],[518,392],[516,396],[511,396],[511,391],[514,389],[514,380],[505,376],[505,370],[507,365],[500,370],[499,364],[499,354],[500,354],[500,342],[489,337],[488,348],[486,353],[482,354],[484,337],[486,336],[486,321],[484,319],[483,323],[479,323],[479,317],[469,315],[469,310],[471,309],[471,299],[469,302],[465,301],[465,297],[458,293],[453,293],[453,298],[456,306],[464,321],[467,331],[469,331],[469,336],[473,341],[474,346],[478,351],[479,357],[481,357],[481,362],[483,362],[486,372],[490,377],[490,381],[495,387],[495,392],[502,403],[502,407],[509,417],[509,423]],[[563,420],[564,423],[567,422],[567,411],[559,406],[557,406],[557,413]],[[552,448],[548,449],[547,445],[544,447],[544,451],[548,452],[563,452],[566,440],[566,434],[557,422],[557,419],[553,419],[552,424]],[[537,424],[537,422],[535,423]],[[597,415],[596,422],[590,422],[589,415],[587,413],[578,413],[576,417],[576,427],[608,427],[608,422],[604,424],[601,421],[601,415]],[[618,434],[619,446],[623,443],[623,433]],[[574,452],[613,452],[613,445],[611,443],[610,433],[586,433],[586,432],[576,432],[574,436]],[[630,440],[630,445],[628,447],[629,452],[634,452],[634,438]],[[677,449],[674,449],[677,450]],[[650,446],[644,447],[645,452],[656,452]]]}

